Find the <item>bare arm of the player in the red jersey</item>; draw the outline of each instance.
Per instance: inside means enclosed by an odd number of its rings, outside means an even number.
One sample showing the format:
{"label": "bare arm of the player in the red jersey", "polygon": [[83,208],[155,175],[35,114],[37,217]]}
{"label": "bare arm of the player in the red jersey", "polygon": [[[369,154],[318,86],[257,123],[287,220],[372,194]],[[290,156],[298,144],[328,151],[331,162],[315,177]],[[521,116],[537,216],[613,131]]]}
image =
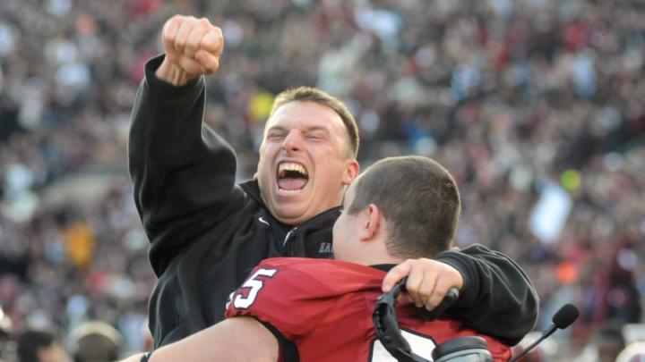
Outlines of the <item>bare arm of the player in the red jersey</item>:
{"label": "bare arm of the player in the red jersey", "polygon": [[[250,316],[226,319],[150,355],[149,362],[267,361],[279,355],[278,341],[264,325]],[[139,362],[142,355],[122,362]]]}

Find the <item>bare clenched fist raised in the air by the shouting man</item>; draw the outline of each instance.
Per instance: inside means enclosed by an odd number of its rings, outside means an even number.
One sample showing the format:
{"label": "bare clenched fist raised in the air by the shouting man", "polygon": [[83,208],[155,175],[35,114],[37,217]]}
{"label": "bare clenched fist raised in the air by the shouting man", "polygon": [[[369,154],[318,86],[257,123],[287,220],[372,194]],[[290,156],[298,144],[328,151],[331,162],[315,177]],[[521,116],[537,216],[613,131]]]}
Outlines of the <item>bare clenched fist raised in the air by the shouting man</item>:
{"label": "bare clenched fist raised in the air by the shouting man", "polygon": [[224,50],[221,29],[206,18],[175,15],[161,30],[166,58],[157,70],[157,76],[173,84],[210,74],[219,68],[219,57]]}

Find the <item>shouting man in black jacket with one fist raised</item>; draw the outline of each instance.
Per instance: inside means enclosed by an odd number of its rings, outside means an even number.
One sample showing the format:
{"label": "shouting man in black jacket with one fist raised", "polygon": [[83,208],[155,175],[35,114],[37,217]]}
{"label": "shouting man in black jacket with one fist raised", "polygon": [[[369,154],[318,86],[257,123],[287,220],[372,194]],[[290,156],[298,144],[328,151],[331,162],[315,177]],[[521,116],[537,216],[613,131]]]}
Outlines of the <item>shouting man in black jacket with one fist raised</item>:
{"label": "shouting man in black jacket with one fist raised", "polygon": [[[165,56],[146,64],[133,108],[129,170],[159,282],[150,328],[159,347],[219,322],[228,293],[267,257],[332,257],[331,227],[357,176],[354,118],[314,88],[281,94],[267,121],[257,181],[235,183],[236,156],[202,124],[202,75],[219,67],[224,40],[206,19],[175,16],[162,30]],[[410,298],[436,306],[463,293],[453,314],[519,341],[537,318],[529,279],[508,257],[476,245],[410,260]]]}

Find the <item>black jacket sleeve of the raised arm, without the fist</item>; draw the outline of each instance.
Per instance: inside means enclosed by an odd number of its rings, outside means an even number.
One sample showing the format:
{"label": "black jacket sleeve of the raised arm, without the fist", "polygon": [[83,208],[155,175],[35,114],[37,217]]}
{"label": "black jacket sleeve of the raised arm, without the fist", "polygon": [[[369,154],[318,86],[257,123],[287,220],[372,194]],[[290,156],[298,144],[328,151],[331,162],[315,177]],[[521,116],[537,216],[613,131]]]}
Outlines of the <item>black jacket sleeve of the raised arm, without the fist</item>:
{"label": "black jacket sleeve of the raised arm, without the fist", "polygon": [[158,276],[181,248],[244,200],[235,185],[233,149],[202,124],[203,77],[173,86],[154,74],[162,60],[159,55],[145,65],[128,140],[134,201]]}

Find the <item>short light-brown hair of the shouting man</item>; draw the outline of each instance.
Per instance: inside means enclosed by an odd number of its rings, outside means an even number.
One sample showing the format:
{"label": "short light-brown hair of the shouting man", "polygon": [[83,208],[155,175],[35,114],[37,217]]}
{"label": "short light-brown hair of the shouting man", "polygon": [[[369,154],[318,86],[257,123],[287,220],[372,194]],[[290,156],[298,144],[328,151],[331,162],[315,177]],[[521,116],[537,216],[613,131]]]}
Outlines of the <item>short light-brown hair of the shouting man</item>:
{"label": "short light-brown hair of the shouting man", "polygon": [[340,102],[336,97],[331,96],[327,92],[313,87],[298,87],[290,88],[280,92],[280,94],[273,100],[273,105],[271,106],[271,116],[280,108],[280,106],[285,105],[289,102],[314,102],[319,105],[324,105],[331,108],[334,112],[340,115],[340,119],[345,128],[348,131],[348,149],[349,152],[354,158],[358,156],[358,145],[360,139],[358,137],[358,125],[354,115],[349,112],[348,107]]}

